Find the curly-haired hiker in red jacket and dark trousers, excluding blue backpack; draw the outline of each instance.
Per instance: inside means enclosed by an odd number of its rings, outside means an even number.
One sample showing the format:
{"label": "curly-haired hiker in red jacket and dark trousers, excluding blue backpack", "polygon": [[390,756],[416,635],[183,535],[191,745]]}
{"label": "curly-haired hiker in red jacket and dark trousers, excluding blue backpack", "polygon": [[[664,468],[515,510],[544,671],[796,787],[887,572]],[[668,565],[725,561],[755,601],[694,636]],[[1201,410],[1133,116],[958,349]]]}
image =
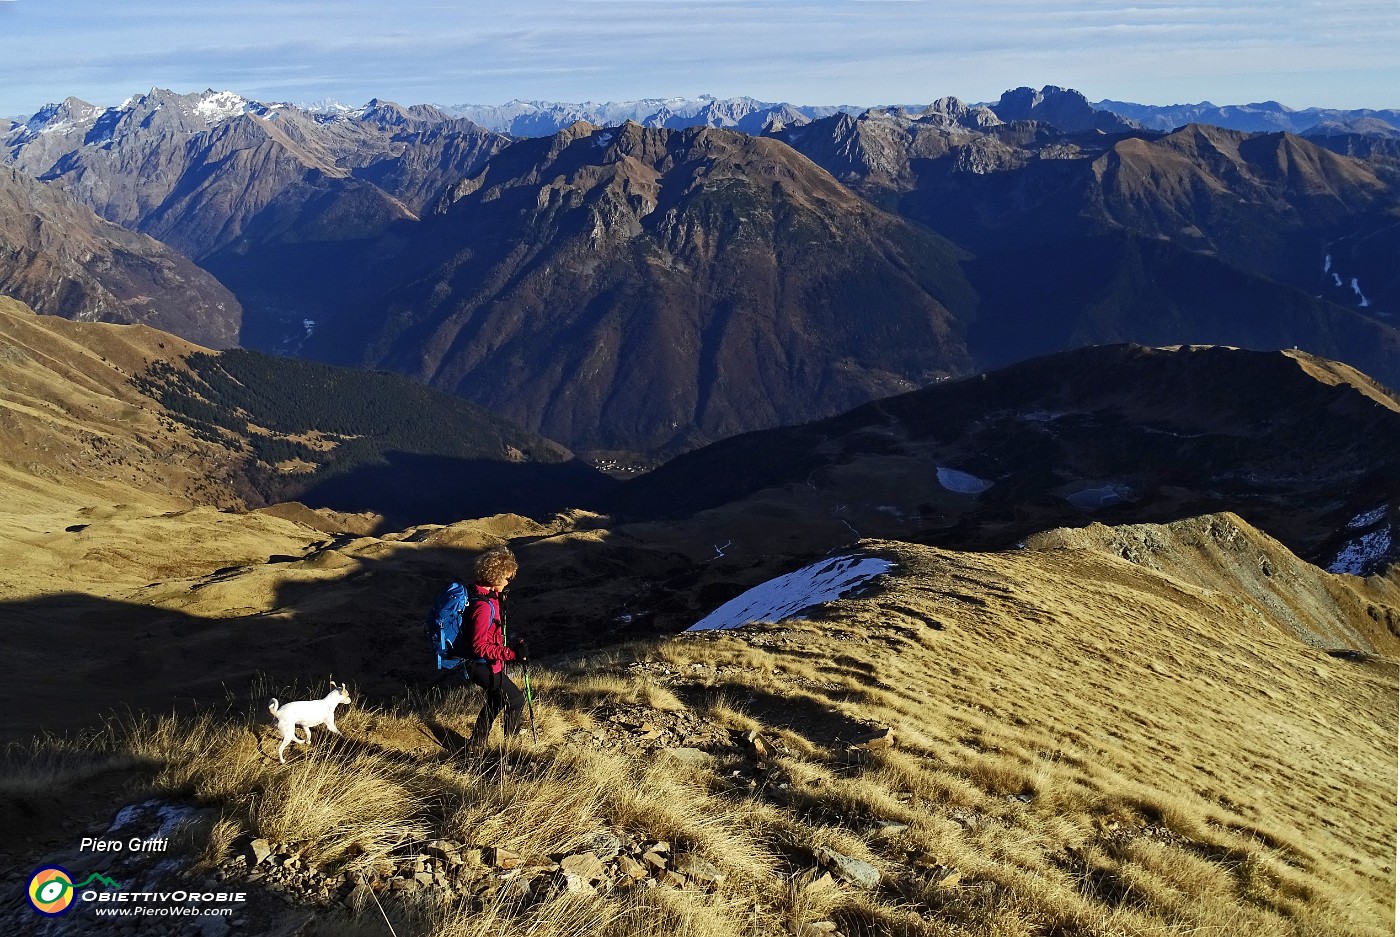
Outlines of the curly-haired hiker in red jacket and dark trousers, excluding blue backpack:
{"label": "curly-haired hiker in red jacket and dark trousers, excluding blue backpack", "polygon": [[486,690],[486,703],[476,717],[472,748],[486,745],[491,723],[504,710],[505,735],[521,731],[525,695],[505,675],[505,661],[524,664],[529,651],[522,639],[505,644],[504,591],[519,566],[508,548],[497,548],[476,559],[476,580],[469,588],[468,616],[462,622],[454,650],[466,660],[466,676]]}

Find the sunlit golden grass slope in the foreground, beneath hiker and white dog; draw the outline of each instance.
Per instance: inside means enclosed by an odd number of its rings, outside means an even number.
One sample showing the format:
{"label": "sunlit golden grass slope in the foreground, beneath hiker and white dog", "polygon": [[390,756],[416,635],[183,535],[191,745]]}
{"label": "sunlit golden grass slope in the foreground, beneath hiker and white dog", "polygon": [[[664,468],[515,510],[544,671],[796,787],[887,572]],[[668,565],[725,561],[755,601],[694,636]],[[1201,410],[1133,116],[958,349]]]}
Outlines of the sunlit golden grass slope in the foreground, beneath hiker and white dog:
{"label": "sunlit golden grass slope in the foreground, beneath hiker and white dog", "polygon": [[[350,741],[290,768],[246,716],[151,720],[45,762],[43,784],[143,759],[143,786],[221,811],[211,863],[246,831],[300,843],[318,874],[386,882],[381,856],[434,836],[557,857],[612,831],[727,873],[714,894],[524,906],[487,877],[386,898],[400,934],[1392,933],[1390,660],[1330,657],[1183,567],[1102,549],[867,546],[896,571],[811,620],[553,661],[536,674],[540,744],[497,747],[504,770],[444,748],[476,705],[454,690],[350,710]],[[1358,588],[1396,604],[1392,581]],[[661,731],[627,728],[643,724]],[[897,747],[853,752],[874,726]],[[750,730],[771,758],[745,752]],[[715,759],[658,758],[676,745]],[[42,812],[14,772],[6,789]],[[822,846],[872,863],[881,887],[805,888]],[[372,905],[346,913],[315,933],[385,933]]]}

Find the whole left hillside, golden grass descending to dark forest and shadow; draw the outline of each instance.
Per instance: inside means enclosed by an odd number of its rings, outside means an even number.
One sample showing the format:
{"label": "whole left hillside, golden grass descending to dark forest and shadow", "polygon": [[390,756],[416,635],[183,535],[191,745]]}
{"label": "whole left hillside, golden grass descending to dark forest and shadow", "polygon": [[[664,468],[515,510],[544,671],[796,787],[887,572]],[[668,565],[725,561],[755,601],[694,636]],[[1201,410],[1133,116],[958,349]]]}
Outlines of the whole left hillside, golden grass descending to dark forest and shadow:
{"label": "whole left hillside, golden grass descending to dark forest and shadow", "polygon": [[[295,500],[372,528],[507,504],[549,514],[608,486],[557,443],[399,375],[213,353],[146,326],[41,317],[4,297],[0,336],[6,478],[36,503],[248,510]],[[55,490],[63,478],[71,492]]]}

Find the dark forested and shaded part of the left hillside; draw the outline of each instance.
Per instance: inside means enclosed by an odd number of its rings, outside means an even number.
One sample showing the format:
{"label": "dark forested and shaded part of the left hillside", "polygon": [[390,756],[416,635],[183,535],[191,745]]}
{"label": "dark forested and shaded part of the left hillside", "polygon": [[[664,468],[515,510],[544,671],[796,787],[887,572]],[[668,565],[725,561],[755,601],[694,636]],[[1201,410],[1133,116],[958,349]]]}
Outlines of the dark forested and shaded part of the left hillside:
{"label": "dark forested and shaded part of the left hillside", "polygon": [[251,504],[375,513],[399,529],[546,515],[613,485],[557,443],[395,374],[234,350],[157,361],[134,382],[232,454]]}

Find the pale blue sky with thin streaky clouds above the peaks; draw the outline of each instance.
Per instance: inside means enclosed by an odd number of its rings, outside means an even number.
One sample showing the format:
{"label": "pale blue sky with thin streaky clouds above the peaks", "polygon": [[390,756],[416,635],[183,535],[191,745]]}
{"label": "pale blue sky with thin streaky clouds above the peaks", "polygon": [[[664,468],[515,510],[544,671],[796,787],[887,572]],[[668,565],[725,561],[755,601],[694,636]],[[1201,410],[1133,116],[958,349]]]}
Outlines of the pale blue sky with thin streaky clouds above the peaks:
{"label": "pale blue sky with thin streaky clouds above the peaks", "polygon": [[995,99],[1400,106],[1400,1],[0,0],[0,115],[263,101]]}

